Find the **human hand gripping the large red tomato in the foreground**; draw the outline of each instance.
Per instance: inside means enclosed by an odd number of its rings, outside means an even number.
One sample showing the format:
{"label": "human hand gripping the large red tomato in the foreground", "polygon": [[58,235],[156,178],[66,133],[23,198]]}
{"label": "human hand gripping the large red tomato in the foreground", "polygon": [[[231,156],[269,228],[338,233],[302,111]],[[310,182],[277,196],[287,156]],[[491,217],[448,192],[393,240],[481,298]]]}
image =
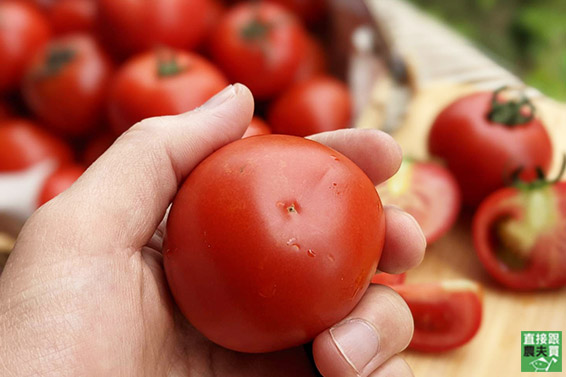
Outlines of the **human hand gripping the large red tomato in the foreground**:
{"label": "human hand gripping the large red tomato in the foreground", "polygon": [[[179,313],[163,273],[162,220],[179,185],[240,138],[252,112],[251,93],[234,85],[195,111],[144,120],[32,215],[0,277],[0,375],[314,376],[302,347],[242,354],[208,341]],[[312,139],[376,184],[401,162],[377,131]],[[379,268],[399,273],[420,262],[425,240],[407,214],[385,214]],[[316,365],[327,377],[410,376],[396,355],[412,331],[403,300],[370,286],[347,319],[314,340]]]}

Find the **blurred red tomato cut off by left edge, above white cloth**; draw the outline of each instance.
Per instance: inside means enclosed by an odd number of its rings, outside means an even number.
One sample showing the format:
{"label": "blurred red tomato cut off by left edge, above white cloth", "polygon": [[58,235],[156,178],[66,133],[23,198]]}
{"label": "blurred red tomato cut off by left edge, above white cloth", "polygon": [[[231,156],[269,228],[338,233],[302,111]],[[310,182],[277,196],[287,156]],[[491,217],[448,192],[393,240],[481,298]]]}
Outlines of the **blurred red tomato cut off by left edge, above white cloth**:
{"label": "blurred red tomato cut off by left edge, above white cloth", "polygon": [[71,161],[73,152],[62,140],[25,119],[0,122],[0,172],[24,170],[45,160]]}

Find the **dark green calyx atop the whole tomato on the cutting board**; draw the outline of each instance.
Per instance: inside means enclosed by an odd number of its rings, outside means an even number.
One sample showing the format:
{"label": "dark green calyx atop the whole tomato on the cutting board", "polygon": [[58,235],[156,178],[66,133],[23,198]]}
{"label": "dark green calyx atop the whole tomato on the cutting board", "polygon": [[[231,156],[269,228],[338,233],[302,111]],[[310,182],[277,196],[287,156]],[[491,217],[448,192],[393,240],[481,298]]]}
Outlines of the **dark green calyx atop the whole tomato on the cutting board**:
{"label": "dark green calyx atop the whole tomato on the cutting board", "polygon": [[525,95],[521,95],[519,99],[501,100],[500,94],[506,90],[506,87],[502,87],[493,92],[488,119],[508,127],[526,124],[533,120],[535,117],[533,103]]}

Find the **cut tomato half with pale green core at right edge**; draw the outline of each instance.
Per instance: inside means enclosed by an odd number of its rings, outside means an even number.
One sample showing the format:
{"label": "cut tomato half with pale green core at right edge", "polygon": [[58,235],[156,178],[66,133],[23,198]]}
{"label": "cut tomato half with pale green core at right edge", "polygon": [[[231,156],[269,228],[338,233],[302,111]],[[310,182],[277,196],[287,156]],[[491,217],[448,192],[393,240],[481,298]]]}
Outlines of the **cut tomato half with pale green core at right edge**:
{"label": "cut tomato half with pale green core at right edge", "polygon": [[500,284],[566,286],[566,182],[547,181],[539,170],[533,182],[494,192],[474,215],[473,236],[480,261]]}

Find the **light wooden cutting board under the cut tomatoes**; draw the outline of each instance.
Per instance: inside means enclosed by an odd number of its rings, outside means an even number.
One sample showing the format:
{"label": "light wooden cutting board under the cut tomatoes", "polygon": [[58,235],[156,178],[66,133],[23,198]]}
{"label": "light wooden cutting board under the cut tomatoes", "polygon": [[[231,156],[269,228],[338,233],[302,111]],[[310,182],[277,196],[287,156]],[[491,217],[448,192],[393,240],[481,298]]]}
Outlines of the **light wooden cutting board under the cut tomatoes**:
{"label": "light wooden cutting board under the cut tomatoes", "polygon": [[[415,94],[403,125],[394,133],[404,153],[428,158],[426,139],[434,117],[446,104],[473,90],[477,89],[439,85]],[[555,160],[560,162],[560,154],[566,151],[566,107],[544,98],[539,99],[537,105],[553,140]],[[371,124],[361,126],[371,127]],[[531,375],[520,372],[521,331],[562,331],[565,336],[566,290],[517,293],[502,289],[490,279],[476,258],[470,229],[471,215],[464,214],[446,236],[428,247],[421,266],[407,274],[407,282],[461,278],[479,281],[484,286],[483,322],[479,333],[471,343],[455,351],[443,354],[406,351],[404,356],[417,377]],[[566,273],[566,266],[564,271]],[[566,372],[564,361],[563,370]]]}

